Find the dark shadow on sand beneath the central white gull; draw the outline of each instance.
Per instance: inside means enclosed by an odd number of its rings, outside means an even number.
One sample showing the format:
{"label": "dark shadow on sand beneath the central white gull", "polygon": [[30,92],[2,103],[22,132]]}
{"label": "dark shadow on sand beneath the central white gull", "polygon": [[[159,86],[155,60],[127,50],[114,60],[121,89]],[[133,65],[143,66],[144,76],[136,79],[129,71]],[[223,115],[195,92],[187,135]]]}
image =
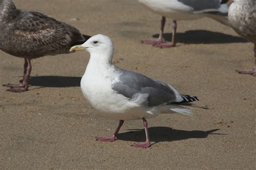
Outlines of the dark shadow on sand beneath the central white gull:
{"label": "dark shadow on sand beneath the central white gull", "polygon": [[[219,129],[214,129],[210,131],[184,131],[184,130],[174,130],[170,127],[150,127],[149,135],[150,140],[154,141],[155,144],[162,141],[176,141],[176,140],[185,140],[190,138],[207,138],[209,134],[219,134],[226,135],[221,133],[213,133]],[[145,130],[143,129],[132,129],[128,130],[129,132],[118,133],[117,138],[119,140],[126,141],[136,141],[143,142],[146,139]]]}

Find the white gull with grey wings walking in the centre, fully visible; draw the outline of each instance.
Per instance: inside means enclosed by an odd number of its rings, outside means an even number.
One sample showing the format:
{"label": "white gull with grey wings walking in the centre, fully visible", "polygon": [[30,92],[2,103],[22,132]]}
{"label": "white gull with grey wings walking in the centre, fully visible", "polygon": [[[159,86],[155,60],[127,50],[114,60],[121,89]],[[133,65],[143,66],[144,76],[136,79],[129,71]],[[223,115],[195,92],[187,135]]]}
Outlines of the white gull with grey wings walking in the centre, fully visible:
{"label": "white gull with grey wings walking in the centre, fully visible", "polygon": [[146,141],[132,146],[147,148],[150,146],[147,118],[157,117],[160,113],[193,114],[183,106],[207,109],[206,106],[191,103],[198,100],[196,96],[180,94],[169,84],[114,65],[113,44],[107,36],[92,36],[84,44],[70,49],[71,52],[79,50],[90,53],[90,60],[81,80],[85,98],[102,117],[119,120],[117,130],[111,138],[96,137],[96,140],[115,141],[124,120],[142,119]]}

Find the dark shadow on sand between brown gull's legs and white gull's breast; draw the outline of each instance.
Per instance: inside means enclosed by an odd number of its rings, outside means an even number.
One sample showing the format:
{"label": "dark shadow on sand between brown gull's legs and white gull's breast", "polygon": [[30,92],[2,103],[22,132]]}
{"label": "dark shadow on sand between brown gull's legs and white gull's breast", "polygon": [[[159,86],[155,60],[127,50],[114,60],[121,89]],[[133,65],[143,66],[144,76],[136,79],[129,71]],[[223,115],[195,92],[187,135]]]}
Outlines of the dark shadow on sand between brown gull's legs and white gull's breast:
{"label": "dark shadow on sand between brown gull's legs and white gull's breast", "polygon": [[[36,76],[30,77],[29,85],[42,87],[78,87],[82,77]],[[19,82],[22,83],[22,80]]]}

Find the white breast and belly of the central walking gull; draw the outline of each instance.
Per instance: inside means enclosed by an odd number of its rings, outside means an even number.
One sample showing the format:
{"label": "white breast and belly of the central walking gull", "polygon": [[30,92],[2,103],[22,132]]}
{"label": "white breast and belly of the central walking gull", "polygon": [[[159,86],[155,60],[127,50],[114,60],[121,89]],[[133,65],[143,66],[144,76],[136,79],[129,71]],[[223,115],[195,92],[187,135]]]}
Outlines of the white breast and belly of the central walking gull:
{"label": "white breast and belly of the central walking gull", "polygon": [[160,114],[157,110],[148,112],[152,108],[142,107],[139,98],[129,99],[113,91],[112,81],[116,81],[117,77],[114,76],[113,72],[109,74],[108,71],[105,71],[104,74],[97,74],[96,72],[92,74],[87,71],[82,77],[82,92],[102,117],[117,120],[136,120],[153,118]]}

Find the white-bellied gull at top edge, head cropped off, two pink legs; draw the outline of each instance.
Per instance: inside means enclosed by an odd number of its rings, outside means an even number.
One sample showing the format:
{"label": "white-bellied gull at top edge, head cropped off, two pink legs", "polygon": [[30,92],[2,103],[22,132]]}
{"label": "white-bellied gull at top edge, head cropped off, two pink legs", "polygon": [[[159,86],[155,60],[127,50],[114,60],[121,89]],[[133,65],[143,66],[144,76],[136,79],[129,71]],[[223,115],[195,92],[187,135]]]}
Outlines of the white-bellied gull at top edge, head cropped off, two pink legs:
{"label": "white-bellied gull at top edge, head cropped off, two pink legs", "polygon": [[[233,0],[139,0],[151,12],[162,16],[159,38],[142,40],[142,43],[166,48],[176,46],[177,21],[210,17],[220,23],[229,25],[228,7]],[[172,18],[172,42],[164,43],[164,26],[167,18]]]}

